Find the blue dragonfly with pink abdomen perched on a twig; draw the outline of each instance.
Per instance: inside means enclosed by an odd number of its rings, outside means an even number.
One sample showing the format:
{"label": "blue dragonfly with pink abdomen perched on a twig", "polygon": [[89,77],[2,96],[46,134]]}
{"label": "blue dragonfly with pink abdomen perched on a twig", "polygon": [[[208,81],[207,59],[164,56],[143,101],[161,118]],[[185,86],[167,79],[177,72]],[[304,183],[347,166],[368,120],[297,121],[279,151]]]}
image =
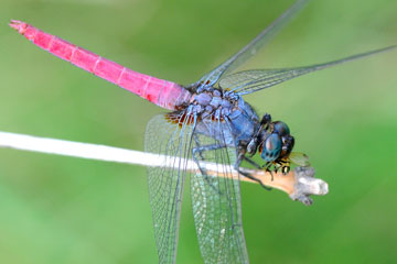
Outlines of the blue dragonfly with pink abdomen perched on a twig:
{"label": "blue dragonfly with pink abdomen perched on a twig", "polygon": [[[187,85],[137,73],[85,48],[12,20],[10,26],[49,53],[108,80],[148,101],[170,110],[153,117],[146,130],[144,150],[162,154],[171,167],[149,167],[149,198],[160,263],[175,263],[182,193],[190,175],[193,217],[205,263],[248,263],[242,222],[239,179],[253,175],[240,170],[243,162],[270,172],[288,173],[291,163],[303,165],[292,152],[294,138],[282,121],[261,118],[244,96],[292,78],[363,58],[388,46],[333,62],[303,67],[235,72],[255,56],[308,0],[298,0],[275,22],[227,61]],[[262,164],[251,160],[258,154]],[[198,172],[186,169],[193,160]],[[224,177],[208,174],[204,163],[215,163]],[[239,174],[233,174],[235,168]],[[266,186],[264,186],[266,187]]]}

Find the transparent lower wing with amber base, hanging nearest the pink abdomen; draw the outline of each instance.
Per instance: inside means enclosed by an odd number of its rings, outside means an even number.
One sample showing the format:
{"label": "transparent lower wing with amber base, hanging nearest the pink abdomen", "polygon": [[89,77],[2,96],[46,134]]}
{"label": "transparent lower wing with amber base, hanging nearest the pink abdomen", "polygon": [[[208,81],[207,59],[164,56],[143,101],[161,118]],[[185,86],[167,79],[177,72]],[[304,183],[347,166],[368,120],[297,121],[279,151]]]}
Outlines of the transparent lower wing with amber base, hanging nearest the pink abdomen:
{"label": "transparent lower wing with amber base, hanging nearest the pink abdomen", "polygon": [[[149,199],[160,263],[175,263],[181,216],[182,189],[193,125],[178,113],[152,118],[144,135],[144,151],[167,156],[163,167],[149,167]],[[171,167],[167,167],[169,164]]]}

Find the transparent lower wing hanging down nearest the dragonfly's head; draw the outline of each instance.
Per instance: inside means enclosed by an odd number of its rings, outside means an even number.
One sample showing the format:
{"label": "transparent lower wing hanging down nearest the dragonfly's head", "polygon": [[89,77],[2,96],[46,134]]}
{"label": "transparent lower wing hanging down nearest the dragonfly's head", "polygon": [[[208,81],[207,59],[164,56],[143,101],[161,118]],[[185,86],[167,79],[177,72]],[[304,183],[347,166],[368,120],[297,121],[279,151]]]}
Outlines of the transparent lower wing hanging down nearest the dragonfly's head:
{"label": "transparent lower wing hanging down nearest the dragonfly's head", "polygon": [[224,147],[227,136],[224,133],[227,131],[223,124],[213,124],[217,125],[212,130],[218,135],[194,134],[194,147],[207,148],[194,155],[198,164],[216,163],[217,170],[225,177],[210,176],[203,166],[203,174],[192,174],[193,216],[204,263],[242,264],[248,263],[248,254],[243,232],[238,175],[230,173],[236,150]]}

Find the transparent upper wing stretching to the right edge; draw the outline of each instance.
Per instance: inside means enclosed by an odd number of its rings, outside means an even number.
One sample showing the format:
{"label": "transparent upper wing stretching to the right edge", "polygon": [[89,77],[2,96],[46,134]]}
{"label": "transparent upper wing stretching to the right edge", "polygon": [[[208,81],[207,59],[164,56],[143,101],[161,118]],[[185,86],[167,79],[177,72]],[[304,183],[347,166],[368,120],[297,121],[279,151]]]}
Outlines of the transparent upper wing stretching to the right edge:
{"label": "transparent upper wing stretching to the right edge", "polygon": [[244,70],[222,78],[219,81],[219,86],[224,90],[235,91],[236,94],[244,96],[247,94],[251,94],[254,91],[258,91],[278,85],[282,81],[296,78],[304,74],[309,74],[315,70],[324,69],[331,66],[355,61],[358,58],[363,58],[376,53],[386,52],[395,47],[396,45],[376,51],[371,51],[367,53],[357,54],[334,62],[316,64],[307,67]]}

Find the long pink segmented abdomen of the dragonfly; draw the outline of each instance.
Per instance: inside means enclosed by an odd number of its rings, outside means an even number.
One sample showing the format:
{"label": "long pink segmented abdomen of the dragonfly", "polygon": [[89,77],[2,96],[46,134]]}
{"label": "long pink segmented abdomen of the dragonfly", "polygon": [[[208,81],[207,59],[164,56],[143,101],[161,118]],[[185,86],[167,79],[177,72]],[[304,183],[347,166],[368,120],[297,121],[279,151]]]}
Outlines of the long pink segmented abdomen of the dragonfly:
{"label": "long pink segmented abdomen of the dragonfly", "polygon": [[159,107],[175,110],[184,102],[189,102],[191,98],[191,94],[175,82],[133,72],[24,22],[12,20],[10,26],[51,54],[125,88]]}

